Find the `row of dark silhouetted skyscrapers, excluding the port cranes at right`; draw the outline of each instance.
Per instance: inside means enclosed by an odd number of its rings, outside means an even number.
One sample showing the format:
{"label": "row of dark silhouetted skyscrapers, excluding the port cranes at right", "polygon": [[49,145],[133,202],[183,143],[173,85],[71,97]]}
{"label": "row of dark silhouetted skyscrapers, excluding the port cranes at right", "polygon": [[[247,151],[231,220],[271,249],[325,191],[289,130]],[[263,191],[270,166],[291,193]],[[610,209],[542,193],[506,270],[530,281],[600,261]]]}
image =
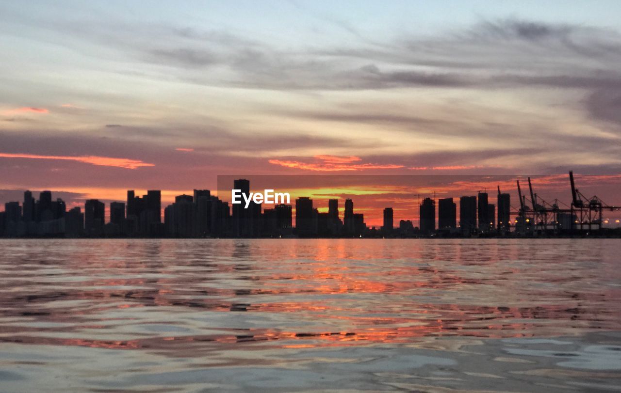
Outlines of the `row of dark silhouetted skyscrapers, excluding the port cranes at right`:
{"label": "row of dark silhouetted skyscrapers, excluding the port cranes at right", "polygon": [[[250,193],[250,182],[239,179],[233,189]],[[96,199],[86,200],[84,211],[79,207],[66,209],[60,198],[43,191],[36,200],[32,192],[24,192],[24,202],[7,202],[0,213],[0,235],[5,237],[353,237],[407,236],[448,234],[489,234],[509,232],[509,194],[499,194],[498,209],[488,203],[487,193],[460,198],[460,215],[453,198],[432,198],[420,202],[420,223],[401,220],[394,228],[394,212],[385,208],[381,229],[369,229],[363,214],[355,213],[353,201],[345,200],[343,219],[338,199],[328,201],[327,213],[320,213],[313,200],[301,197],[295,201],[295,225],[291,205],[273,205],[262,209],[260,203],[244,205],[229,203],[211,195],[209,190],[194,190],[193,195],[178,195],[175,202],[161,210],[161,192],[150,190],[137,196],[127,192],[127,201],[106,206]],[[437,227],[436,227],[437,223]],[[498,223],[498,224],[496,224]]]}

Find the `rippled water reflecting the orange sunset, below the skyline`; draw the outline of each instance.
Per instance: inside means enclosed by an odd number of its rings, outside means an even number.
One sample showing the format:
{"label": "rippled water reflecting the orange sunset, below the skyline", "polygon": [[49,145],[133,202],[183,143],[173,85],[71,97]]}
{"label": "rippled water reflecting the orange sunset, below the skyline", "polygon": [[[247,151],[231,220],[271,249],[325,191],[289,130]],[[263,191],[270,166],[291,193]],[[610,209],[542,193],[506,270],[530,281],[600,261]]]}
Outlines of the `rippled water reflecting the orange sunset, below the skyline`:
{"label": "rippled water reflecting the orange sunset, below the skyline", "polygon": [[0,391],[619,391],[618,239],[0,241]]}

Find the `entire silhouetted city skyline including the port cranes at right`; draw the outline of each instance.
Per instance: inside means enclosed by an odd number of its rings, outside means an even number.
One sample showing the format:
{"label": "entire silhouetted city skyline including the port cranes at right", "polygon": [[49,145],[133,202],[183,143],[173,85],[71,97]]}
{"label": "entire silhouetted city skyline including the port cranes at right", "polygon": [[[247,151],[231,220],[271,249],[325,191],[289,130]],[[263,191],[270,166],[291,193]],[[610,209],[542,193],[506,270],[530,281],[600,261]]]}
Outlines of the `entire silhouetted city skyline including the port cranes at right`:
{"label": "entire silhouetted city skyline including the port cranes at right", "polygon": [[[271,179],[278,183],[274,177]],[[568,179],[573,198],[569,205],[558,198],[546,201],[533,190],[532,180],[527,177],[528,191],[522,191],[519,178],[511,179],[518,190],[516,209],[511,204],[511,194],[501,192],[501,182],[505,182],[502,183],[505,187],[509,179],[501,177],[494,179],[499,181],[496,198],[493,194],[490,197],[485,189],[479,189],[476,195],[460,195],[455,201],[452,196],[437,198],[435,192],[433,198],[421,200],[419,195],[417,220],[399,216],[402,211],[397,210],[399,224],[395,227],[394,208],[387,206],[383,208],[382,224],[377,228],[370,222],[377,221],[375,218],[366,216],[365,220],[365,213],[354,210],[352,198],[345,198],[341,215],[339,198],[326,194],[315,200],[316,205],[310,196],[298,195],[294,196],[294,204],[250,201],[242,206],[230,203],[225,192],[217,196],[211,190],[194,189],[192,195],[175,196],[175,201],[164,208],[161,190],[148,190],[142,196],[135,190],[127,190],[125,202],[112,201],[106,210],[102,201],[89,199],[84,201],[82,213],[80,207],[67,210],[65,201],[53,200],[50,191],[40,192],[37,200],[26,190],[21,205],[19,201],[4,204],[4,211],[0,212],[0,234],[5,237],[507,236],[511,233],[545,236],[576,234],[575,231],[583,229],[621,228],[621,220],[614,216],[621,206],[609,205],[598,195],[586,196],[584,188],[575,187],[571,171]],[[230,183],[229,177],[224,180]],[[334,180],[335,177],[327,177],[324,182]],[[521,180],[524,185],[524,179]],[[231,190],[250,195],[256,186],[251,187],[248,179],[235,179]],[[326,196],[329,197],[327,206],[320,207],[321,203],[325,204]],[[418,221],[417,225],[413,221]]]}

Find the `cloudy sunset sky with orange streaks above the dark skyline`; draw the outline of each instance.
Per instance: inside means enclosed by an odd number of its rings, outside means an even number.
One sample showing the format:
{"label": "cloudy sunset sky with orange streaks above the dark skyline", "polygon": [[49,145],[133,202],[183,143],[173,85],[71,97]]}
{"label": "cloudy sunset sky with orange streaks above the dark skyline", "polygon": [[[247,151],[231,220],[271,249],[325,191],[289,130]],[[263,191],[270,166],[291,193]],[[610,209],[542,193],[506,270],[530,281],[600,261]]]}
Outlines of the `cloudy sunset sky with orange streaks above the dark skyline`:
{"label": "cloudy sunset sky with orange streaks above the dark skyline", "polygon": [[1,2],[0,201],[166,201],[233,174],[620,174],[618,15],[618,1]]}

